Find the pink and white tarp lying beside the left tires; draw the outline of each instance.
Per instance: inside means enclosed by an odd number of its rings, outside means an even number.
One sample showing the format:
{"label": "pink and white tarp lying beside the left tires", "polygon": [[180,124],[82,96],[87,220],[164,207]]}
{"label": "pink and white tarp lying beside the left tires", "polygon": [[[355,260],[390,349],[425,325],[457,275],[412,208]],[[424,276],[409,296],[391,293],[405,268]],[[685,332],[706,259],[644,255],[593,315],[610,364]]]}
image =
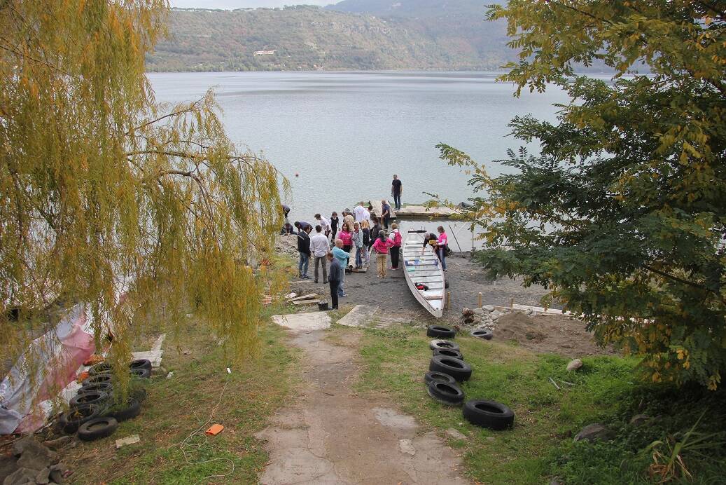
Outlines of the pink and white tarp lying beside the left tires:
{"label": "pink and white tarp lying beside the left tires", "polygon": [[[44,425],[41,403],[76,380],[78,368],[96,350],[84,305],[68,311],[55,329],[36,338],[0,383],[0,434],[33,433]],[[41,359],[31,376],[27,356]],[[35,410],[36,412],[33,412]]]}

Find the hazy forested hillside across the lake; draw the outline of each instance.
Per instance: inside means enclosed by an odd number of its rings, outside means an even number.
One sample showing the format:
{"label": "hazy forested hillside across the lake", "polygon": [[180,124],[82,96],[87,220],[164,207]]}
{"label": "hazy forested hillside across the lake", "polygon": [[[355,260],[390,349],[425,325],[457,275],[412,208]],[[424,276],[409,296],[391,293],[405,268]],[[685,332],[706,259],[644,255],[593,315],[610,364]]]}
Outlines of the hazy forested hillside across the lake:
{"label": "hazy forested hillside across the lake", "polygon": [[396,15],[388,15],[385,4],[174,9],[168,39],[147,56],[147,69],[495,69],[513,59],[503,26],[484,20],[478,0],[401,4]]}

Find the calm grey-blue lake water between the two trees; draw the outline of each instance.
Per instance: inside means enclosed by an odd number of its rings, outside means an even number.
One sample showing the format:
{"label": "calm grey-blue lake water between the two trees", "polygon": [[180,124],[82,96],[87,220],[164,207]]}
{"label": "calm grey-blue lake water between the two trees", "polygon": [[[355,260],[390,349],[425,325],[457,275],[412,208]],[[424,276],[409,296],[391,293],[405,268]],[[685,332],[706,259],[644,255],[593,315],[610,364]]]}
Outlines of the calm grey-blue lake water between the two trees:
{"label": "calm grey-blue lake water between the two trees", "polygon": [[[495,73],[150,73],[158,101],[202,97],[210,87],[224,110],[229,137],[262,152],[292,183],[293,220],[388,196],[394,173],[403,202],[438,193],[455,202],[471,196],[468,176],[439,159],[448,143],[486,164],[518,148],[507,124],[516,115],[555,119],[553,103],[568,97],[513,97]],[[530,147],[537,151],[537,147]],[[295,175],[298,175],[297,177]],[[417,223],[418,226],[421,223]],[[431,225],[431,224],[429,224]],[[462,236],[465,238],[465,236]],[[462,241],[462,246],[470,244]]]}

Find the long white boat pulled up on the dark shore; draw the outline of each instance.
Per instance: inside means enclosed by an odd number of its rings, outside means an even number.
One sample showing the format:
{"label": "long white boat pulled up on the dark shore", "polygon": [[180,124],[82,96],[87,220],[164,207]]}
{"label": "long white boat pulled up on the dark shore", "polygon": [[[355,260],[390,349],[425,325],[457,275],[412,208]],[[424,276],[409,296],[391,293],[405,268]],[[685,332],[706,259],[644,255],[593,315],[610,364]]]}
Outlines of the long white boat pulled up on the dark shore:
{"label": "long white boat pulled up on the dark shore", "polygon": [[[409,231],[402,248],[404,253],[402,269],[406,273],[406,283],[416,300],[431,315],[441,318],[446,303],[444,270],[441,269],[439,257],[431,246],[427,244],[425,248],[423,247],[423,236],[424,234],[417,231]],[[417,289],[417,283],[428,286],[428,290]]]}

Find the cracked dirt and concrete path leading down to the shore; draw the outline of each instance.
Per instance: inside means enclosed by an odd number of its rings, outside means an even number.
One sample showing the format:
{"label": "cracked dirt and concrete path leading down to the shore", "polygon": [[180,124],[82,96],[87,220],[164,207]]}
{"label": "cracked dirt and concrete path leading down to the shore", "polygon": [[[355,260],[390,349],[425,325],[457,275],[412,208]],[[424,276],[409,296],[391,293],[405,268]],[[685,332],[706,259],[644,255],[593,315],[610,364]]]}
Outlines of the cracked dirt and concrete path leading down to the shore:
{"label": "cracked dirt and concrete path leading down to the shore", "polygon": [[290,331],[305,353],[301,396],[258,434],[270,462],[262,484],[467,484],[458,457],[413,417],[357,396],[357,334],[333,345],[324,330]]}

